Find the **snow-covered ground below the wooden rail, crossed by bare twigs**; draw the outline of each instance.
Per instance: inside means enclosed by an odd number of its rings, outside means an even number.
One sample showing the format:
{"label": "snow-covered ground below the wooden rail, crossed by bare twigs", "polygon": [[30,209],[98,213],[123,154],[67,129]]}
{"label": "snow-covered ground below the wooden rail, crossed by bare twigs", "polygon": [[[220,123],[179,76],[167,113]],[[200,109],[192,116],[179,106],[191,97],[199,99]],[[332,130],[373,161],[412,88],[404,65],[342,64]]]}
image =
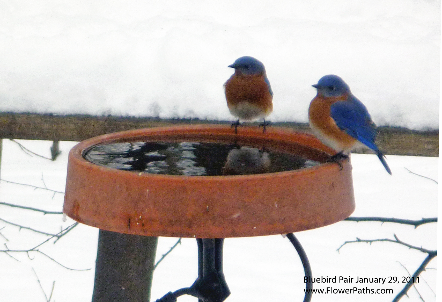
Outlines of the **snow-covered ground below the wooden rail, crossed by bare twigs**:
{"label": "snow-covered ground below the wooden rail, crossed by bare twigs", "polygon": [[[36,153],[50,156],[49,141],[20,141]],[[30,157],[18,145],[4,140],[1,179],[64,191],[66,162],[69,149],[74,142],[61,142],[61,156],[52,162],[39,157]],[[387,156],[393,175],[385,172],[374,155],[353,154],[354,191],[356,210],[353,216],[382,216],[420,219],[437,216],[438,185],[432,180],[408,172],[438,180],[438,158]],[[44,183],[42,182],[42,177]],[[63,195],[50,191],[0,183],[0,202],[15,203],[46,210],[61,211]],[[61,227],[73,223],[68,218],[62,222],[61,215],[43,215],[34,211],[0,205],[0,218],[23,226],[30,226],[49,233],[57,233]],[[4,227],[4,228],[3,228]],[[1,229],[3,228],[3,229]],[[10,249],[27,249],[44,241],[47,237],[0,221],[0,245]],[[408,276],[419,266],[426,254],[404,246],[382,242],[368,245],[353,243],[336,249],[344,241],[361,239],[393,238],[395,233],[401,240],[415,246],[436,249],[437,223],[413,229],[380,222],[339,222],[331,226],[297,233],[312,265],[314,277],[343,276],[362,278],[387,278]],[[32,269],[37,273],[47,295],[55,281],[51,301],[90,301],[93,281],[98,229],[78,225],[57,243],[53,240],[42,245],[41,250],[61,264],[47,257],[30,253],[11,253],[12,257],[0,253],[0,300],[2,302],[46,301]],[[159,240],[157,259],[167,252],[177,238]],[[19,260],[19,261],[18,261]],[[403,267],[403,266],[405,267]],[[421,275],[416,288],[426,302],[436,301],[436,259]],[[225,240],[224,271],[232,292],[227,301],[302,301],[303,270],[293,246],[280,235],[251,238],[229,238]],[[184,238],[160,263],[154,272],[152,301],[168,291],[190,286],[197,276],[197,248],[194,239]],[[312,301],[391,301],[403,287],[403,283],[363,284],[315,283],[314,288],[392,288],[394,294],[315,294]],[[401,301],[420,301],[415,289],[409,291],[410,298]],[[196,301],[183,296],[179,301]]]}

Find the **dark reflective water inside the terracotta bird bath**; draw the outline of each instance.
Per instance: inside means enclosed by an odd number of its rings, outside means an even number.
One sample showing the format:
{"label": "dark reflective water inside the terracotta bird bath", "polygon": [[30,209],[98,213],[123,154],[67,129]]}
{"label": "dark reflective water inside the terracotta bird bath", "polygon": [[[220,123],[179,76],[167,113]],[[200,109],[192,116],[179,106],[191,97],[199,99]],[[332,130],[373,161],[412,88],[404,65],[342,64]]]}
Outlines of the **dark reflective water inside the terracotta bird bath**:
{"label": "dark reflective water inside the terracotta bird bath", "polygon": [[296,154],[208,142],[121,142],[96,145],[84,158],[95,164],[152,174],[216,176],[282,172],[320,164]]}

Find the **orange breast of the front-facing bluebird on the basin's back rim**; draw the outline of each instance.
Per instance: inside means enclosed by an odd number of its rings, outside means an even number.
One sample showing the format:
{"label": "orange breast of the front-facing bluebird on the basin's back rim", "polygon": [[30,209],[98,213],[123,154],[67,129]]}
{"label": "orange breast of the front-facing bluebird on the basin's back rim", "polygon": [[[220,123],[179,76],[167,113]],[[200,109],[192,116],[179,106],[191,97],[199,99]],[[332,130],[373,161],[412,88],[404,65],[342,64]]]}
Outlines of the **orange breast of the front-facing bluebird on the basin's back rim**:
{"label": "orange breast of the front-facing bluebird on the basin's back rim", "polygon": [[273,110],[273,96],[263,75],[244,76],[235,72],[224,86],[229,109],[238,103],[247,102],[259,107],[266,114]]}

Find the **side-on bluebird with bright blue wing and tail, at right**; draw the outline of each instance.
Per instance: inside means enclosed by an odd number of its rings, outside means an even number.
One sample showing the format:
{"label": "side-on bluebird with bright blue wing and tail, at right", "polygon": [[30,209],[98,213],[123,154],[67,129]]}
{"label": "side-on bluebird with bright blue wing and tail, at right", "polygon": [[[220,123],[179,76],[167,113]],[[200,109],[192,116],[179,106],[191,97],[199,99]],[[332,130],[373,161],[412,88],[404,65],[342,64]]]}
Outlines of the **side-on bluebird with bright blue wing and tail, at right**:
{"label": "side-on bluebird with bright blue wing and tail, at right", "polygon": [[377,126],[350,87],[333,74],[323,76],[312,86],[317,94],[310,102],[309,123],[316,137],[338,152],[329,161],[339,164],[339,159],[348,158],[352,149],[363,144],[376,153],[391,175],[384,154],[374,143]]}

